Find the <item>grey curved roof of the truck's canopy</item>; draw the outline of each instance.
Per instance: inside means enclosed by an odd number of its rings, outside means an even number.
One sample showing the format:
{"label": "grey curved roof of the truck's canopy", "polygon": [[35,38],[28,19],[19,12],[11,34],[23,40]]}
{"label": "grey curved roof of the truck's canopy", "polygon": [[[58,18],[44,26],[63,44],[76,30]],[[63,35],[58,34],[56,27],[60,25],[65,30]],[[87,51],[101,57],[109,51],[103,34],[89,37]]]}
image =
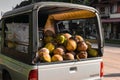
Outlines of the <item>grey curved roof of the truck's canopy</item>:
{"label": "grey curved roof of the truck's canopy", "polygon": [[78,5],[78,4],[70,4],[70,3],[63,3],[63,2],[38,2],[34,4],[30,4],[24,7],[16,8],[13,9],[12,11],[6,12],[2,18],[18,15],[18,14],[23,14],[26,12],[31,12],[33,10],[43,10],[44,13],[58,13],[60,11],[71,11],[71,10],[79,10],[79,9],[84,9],[84,10],[89,10],[93,12],[98,11],[92,7],[84,6],[84,5]]}

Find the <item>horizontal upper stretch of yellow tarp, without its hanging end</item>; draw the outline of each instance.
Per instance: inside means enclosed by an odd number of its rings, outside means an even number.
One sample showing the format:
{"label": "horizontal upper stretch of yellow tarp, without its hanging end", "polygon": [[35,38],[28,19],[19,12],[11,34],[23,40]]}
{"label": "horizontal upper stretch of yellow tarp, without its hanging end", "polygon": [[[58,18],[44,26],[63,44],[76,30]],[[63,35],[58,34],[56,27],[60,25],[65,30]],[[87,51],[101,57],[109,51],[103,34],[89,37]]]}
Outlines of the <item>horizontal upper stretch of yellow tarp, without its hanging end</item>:
{"label": "horizontal upper stretch of yellow tarp, without its hanging end", "polygon": [[50,15],[54,20],[70,20],[70,19],[80,19],[80,18],[90,18],[94,17],[95,13],[88,10],[66,12],[60,14]]}

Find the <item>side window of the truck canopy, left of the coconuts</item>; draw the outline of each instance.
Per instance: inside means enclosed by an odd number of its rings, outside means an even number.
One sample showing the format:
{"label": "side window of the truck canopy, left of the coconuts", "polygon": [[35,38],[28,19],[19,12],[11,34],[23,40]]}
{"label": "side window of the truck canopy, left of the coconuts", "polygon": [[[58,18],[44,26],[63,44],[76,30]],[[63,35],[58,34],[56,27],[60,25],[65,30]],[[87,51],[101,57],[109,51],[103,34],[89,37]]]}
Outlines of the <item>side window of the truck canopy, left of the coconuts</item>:
{"label": "side window of the truck canopy, left of the coconuts", "polygon": [[29,15],[22,14],[5,19],[4,47],[28,53],[29,46]]}

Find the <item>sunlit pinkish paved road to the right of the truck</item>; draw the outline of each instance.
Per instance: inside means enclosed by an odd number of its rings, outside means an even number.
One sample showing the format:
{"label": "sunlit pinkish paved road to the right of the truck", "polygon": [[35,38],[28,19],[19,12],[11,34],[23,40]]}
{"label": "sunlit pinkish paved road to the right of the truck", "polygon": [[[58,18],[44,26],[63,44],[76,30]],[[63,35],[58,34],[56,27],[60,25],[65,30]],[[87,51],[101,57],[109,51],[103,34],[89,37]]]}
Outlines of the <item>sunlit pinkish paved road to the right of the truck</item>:
{"label": "sunlit pinkish paved road to the right of the truck", "polygon": [[105,46],[104,80],[120,80],[120,45]]}

